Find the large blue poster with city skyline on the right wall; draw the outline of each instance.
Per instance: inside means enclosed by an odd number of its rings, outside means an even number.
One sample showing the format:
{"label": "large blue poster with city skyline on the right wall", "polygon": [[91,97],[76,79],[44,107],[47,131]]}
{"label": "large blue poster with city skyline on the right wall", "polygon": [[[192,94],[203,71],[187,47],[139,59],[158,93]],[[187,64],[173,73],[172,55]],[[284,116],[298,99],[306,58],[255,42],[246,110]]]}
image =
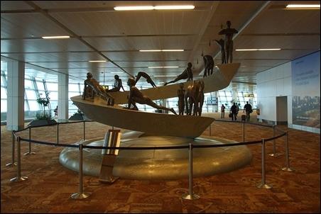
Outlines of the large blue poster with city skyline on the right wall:
{"label": "large blue poster with city skyline on the right wall", "polygon": [[292,61],[292,120],[320,128],[320,51]]}

